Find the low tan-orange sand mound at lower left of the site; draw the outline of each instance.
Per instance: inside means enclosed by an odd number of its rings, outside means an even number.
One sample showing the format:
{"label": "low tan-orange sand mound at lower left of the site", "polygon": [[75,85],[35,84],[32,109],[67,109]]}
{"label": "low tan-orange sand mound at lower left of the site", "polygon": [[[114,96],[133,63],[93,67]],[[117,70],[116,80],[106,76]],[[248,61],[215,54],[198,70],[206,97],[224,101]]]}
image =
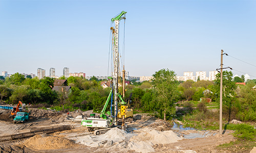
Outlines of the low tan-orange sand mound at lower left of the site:
{"label": "low tan-orange sand mound at lower left of the site", "polygon": [[34,137],[26,140],[24,145],[35,150],[74,148],[79,146],[72,140],[51,136],[48,134],[35,135]]}

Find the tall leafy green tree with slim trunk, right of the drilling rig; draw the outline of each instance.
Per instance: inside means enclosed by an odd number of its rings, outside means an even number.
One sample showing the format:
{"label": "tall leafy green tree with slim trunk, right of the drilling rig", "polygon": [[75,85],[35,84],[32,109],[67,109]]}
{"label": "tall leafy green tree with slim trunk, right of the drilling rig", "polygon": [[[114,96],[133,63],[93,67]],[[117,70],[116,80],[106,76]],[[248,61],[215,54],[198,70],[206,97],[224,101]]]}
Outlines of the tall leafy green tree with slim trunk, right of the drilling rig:
{"label": "tall leafy green tree with slim trunk, right of the drilling rig", "polygon": [[[166,120],[166,114],[174,115],[174,103],[178,97],[178,81],[175,79],[175,71],[161,69],[153,74],[153,87],[156,90],[156,100]],[[160,112],[161,114],[161,112]]]}

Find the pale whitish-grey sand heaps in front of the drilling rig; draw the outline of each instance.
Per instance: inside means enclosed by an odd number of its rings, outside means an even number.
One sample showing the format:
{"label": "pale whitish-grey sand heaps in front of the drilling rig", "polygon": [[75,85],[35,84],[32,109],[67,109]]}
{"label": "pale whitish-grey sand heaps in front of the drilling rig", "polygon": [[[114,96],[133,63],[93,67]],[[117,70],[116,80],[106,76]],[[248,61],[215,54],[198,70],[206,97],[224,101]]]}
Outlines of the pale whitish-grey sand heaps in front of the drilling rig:
{"label": "pale whitish-grey sand heaps in front of the drilling rig", "polygon": [[103,135],[78,137],[77,143],[91,147],[102,146],[106,151],[113,149],[134,150],[136,152],[153,152],[155,144],[167,144],[181,140],[174,132],[159,132],[151,127],[127,133],[118,128],[113,128]]}

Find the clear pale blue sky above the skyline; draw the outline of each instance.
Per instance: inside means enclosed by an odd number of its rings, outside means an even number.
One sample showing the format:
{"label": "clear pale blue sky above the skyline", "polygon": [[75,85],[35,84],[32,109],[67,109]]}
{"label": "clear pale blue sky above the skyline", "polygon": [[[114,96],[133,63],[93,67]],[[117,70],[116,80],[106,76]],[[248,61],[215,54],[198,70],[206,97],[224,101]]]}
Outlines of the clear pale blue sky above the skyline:
{"label": "clear pale blue sky above the skyline", "polygon": [[[54,67],[60,76],[69,67],[107,75],[111,18],[121,11],[127,12],[125,69],[131,76],[162,68],[208,75],[220,65],[221,49],[256,65],[256,1],[0,0],[0,71],[36,73],[40,67],[49,75]],[[224,64],[256,76],[255,66],[229,56]]]}

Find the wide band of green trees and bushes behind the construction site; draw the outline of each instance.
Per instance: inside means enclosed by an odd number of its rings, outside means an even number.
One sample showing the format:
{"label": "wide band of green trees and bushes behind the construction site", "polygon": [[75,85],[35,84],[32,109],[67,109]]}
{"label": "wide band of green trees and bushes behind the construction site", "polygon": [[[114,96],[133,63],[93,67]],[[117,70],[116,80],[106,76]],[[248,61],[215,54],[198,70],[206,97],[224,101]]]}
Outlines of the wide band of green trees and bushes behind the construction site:
{"label": "wide band of green trees and bushes behind the construction site", "polygon": [[[160,118],[167,119],[175,115],[175,103],[182,100],[198,101],[202,97],[212,98],[219,101],[220,74],[217,79],[211,81],[178,82],[176,74],[172,70],[161,69],[153,74],[152,82],[143,82],[136,85],[126,86],[125,97],[131,98],[132,108],[143,112],[153,112]],[[65,78],[61,78],[65,79]],[[59,105],[63,108],[100,111],[105,100],[112,90],[100,87],[100,81],[82,77],[69,77],[68,85],[71,92],[67,98],[61,93],[53,91],[54,79],[25,78],[24,75],[15,73],[10,78],[0,81],[0,100],[8,103],[47,103]],[[240,120],[256,120],[256,91],[253,80],[248,81],[246,86],[236,85],[232,79],[232,72],[223,72],[223,101],[224,113],[229,118]],[[65,97],[65,99],[63,99]]]}

